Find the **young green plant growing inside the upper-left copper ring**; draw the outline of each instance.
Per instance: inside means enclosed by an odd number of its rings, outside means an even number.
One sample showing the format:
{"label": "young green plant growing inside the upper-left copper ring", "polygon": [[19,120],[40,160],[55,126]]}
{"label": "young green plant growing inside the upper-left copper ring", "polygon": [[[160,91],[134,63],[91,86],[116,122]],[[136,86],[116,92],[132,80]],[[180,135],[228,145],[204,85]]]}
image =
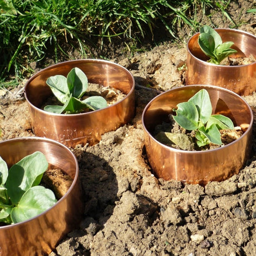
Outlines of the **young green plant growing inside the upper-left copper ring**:
{"label": "young green plant growing inside the upper-left copper ring", "polygon": [[51,76],[46,81],[53,94],[63,104],[48,105],[44,110],[56,114],[76,114],[85,109],[98,110],[107,106],[104,97],[91,96],[81,101],[81,97],[88,88],[88,80],[80,68],[72,68],[67,77],[62,75]]}

